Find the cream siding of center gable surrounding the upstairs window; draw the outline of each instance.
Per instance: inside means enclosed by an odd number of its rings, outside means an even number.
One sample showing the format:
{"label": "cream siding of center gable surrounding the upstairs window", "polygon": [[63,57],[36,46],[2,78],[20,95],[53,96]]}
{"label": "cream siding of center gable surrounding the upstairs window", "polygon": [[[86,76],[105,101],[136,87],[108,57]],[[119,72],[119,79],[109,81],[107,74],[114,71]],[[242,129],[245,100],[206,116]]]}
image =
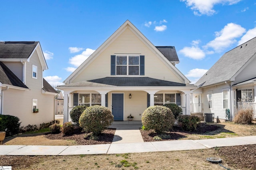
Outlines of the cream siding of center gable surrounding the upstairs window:
{"label": "cream siding of center gable surrounding the upstairs window", "polygon": [[165,61],[156,56],[129,28],[102,51],[96,59],[88,63],[89,65],[70,83],[110,76],[110,56],[114,54],[144,55],[144,76],[183,83],[182,78],[177,76],[176,72],[170,70],[170,66],[167,66]]}

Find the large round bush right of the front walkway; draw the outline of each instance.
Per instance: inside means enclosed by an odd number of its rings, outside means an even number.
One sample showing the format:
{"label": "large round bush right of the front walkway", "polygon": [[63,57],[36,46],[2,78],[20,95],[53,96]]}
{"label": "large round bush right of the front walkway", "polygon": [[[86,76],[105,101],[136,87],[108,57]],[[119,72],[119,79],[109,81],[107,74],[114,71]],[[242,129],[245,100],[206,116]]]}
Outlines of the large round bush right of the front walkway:
{"label": "large round bush right of the front walkway", "polygon": [[156,133],[170,131],[174,125],[171,109],[164,106],[150,106],[142,113],[142,125],[145,129],[154,129]]}

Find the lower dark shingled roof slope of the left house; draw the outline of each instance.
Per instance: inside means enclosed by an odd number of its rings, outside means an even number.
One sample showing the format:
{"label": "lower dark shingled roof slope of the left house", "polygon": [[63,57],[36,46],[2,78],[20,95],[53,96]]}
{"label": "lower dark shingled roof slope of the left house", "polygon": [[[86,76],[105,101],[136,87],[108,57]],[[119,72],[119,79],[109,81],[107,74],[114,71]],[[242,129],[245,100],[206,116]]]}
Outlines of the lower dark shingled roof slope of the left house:
{"label": "lower dark shingled roof slope of the left house", "polygon": [[0,61],[0,82],[2,84],[28,88],[4,63]]}

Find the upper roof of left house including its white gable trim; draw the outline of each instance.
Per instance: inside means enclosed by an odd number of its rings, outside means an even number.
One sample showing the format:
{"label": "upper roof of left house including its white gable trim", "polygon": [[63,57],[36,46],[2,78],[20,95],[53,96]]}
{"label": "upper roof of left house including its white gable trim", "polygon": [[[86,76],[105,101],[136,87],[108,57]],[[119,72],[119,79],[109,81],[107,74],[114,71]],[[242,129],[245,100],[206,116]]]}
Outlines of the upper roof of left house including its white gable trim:
{"label": "upper roof of left house including its white gable trim", "polygon": [[44,54],[39,41],[4,41],[0,42],[0,61],[28,61],[37,51],[43,70],[47,70]]}

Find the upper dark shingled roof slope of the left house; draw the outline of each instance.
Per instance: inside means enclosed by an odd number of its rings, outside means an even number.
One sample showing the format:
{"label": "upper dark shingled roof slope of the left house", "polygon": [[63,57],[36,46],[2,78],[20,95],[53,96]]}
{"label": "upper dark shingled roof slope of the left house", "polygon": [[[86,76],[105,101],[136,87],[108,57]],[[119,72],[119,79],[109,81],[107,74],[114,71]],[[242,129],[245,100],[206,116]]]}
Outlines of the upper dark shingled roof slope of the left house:
{"label": "upper dark shingled roof slope of the left house", "polygon": [[38,41],[5,41],[0,42],[0,59],[28,59]]}

